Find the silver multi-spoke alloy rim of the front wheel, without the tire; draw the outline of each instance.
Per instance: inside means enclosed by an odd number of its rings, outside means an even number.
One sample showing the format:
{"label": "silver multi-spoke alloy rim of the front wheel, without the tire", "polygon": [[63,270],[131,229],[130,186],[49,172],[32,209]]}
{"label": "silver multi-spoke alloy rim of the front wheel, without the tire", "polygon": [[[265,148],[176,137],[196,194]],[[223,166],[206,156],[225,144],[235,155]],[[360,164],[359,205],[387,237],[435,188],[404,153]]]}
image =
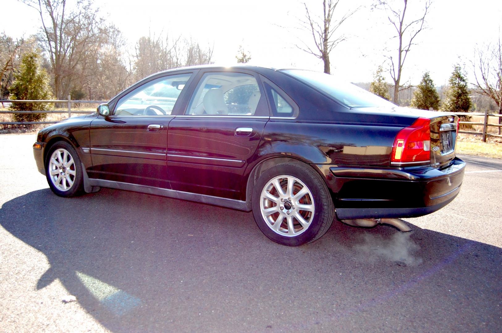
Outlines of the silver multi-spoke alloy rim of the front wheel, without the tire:
{"label": "silver multi-spoke alloy rim of the front wheel, without the tire", "polygon": [[51,182],[60,191],[68,191],[75,182],[75,162],[71,154],[63,148],[56,149],[49,161]]}

